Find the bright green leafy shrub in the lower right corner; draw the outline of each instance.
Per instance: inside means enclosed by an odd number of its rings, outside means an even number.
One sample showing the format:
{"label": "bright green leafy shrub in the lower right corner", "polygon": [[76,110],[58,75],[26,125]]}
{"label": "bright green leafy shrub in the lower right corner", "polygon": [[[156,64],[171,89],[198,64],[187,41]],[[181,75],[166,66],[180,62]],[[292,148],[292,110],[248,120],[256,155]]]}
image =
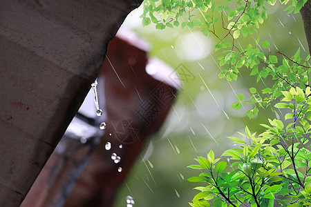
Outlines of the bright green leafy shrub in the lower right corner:
{"label": "bright green leafy shrub in the lower right corner", "polygon": [[268,119],[270,125],[262,124],[266,129],[258,137],[247,127],[240,133],[243,139],[228,137],[238,146],[223,153],[228,164],[215,159],[212,150],[207,159],[198,157],[199,165],[189,168],[201,173],[188,180],[206,186],[196,188],[200,193],[191,206],[209,206],[214,198],[212,206],[311,206],[310,94],[310,87],[283,92],[275,107],[290,110],[287,126]]}

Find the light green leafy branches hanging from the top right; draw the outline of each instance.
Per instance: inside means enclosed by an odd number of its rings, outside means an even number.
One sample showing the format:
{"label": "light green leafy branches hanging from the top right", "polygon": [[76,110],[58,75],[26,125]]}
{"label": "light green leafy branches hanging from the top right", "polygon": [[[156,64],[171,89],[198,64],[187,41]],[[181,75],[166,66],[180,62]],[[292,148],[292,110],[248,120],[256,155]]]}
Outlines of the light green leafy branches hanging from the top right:
{"label": "light green leafy branches hanging from the top right", "polygon": [[[288,12],[299,12],[307,0],[292,0],[292,4],[286,10]],[[289,0],[280,0],[288,4]],[[156,28],[163,30],[166,27],[173,28],[199,28],[206,36],[214,35],[218,39],[215,50],[221,50],[223,55],[217,59],[223,69],[219,78],[228,81],[237,80],[241,68],[247,68],[250,75],[256,77],[256,81],[264,79],[274,80],[272,87],[263,90],[254,88],[252,96],[245,101],[236,101],[231,108],[241,109],[243,104],[252,104],[252,109],[245,115],[252,119],[258,115],[258,108],[267,108],[273,101],[279,100],[282,90],[299,86],[303,90],[308,85],[308,75],[311,68],[305,61],[301,60],[300,49],[292,57],[278,52],[277,55],[270,54],[270,43],[263,41],[262,44],[256,39],[256,46],[248,44],[246,48],[238,48],[235,39],[247,37],[254,34],[265,19],[267,19],[266,4],[274,5],[276,0],[238,0],[233,5],[227,0],[225,5],[218,5],[215,0],[147,0],[144,1],[144,12],[141,15],[142,24],[147,26],[156,24]],[[198,10],[199,15],[194,10]],[[227,20],[224,15],[227,14]],[[216,32],[216,25],[222,25],[225,35],[220,37]],[[241,35],[242,34],[242,35]],[[262,52],[261,47],[265,49]],[[254,91],[254,89],[252,91]]]}

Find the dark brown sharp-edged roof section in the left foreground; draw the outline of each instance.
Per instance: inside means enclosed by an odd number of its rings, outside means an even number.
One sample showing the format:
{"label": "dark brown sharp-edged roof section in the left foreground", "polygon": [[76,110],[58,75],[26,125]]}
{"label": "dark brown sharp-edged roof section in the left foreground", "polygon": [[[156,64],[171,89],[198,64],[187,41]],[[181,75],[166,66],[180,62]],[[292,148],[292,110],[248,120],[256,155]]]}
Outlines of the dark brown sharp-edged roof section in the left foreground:
{"label": "dark brown sharp-edged roof section in the left foreground", "polygon": [[0,0],[0,206],[19,206],[133,1]]}

